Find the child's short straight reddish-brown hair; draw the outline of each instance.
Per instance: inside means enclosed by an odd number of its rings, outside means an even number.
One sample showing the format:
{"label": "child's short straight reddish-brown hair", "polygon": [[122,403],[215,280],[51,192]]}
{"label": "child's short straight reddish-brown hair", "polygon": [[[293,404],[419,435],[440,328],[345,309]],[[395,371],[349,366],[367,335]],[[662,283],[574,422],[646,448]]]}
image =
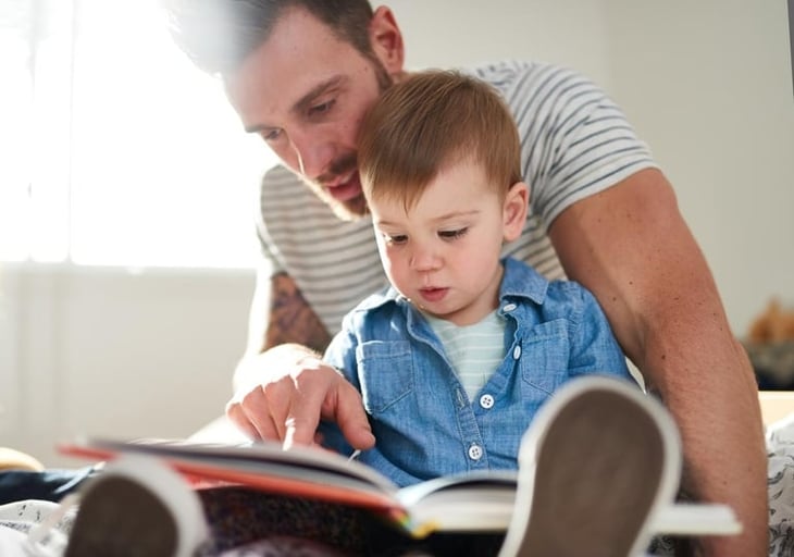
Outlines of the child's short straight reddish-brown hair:
{"label": "child's short straight reddish-brown hair", "polygon": [[506,195],[521,182],[516,123],[488,84],[455,71],[432,70],[394,85],[364,119],[358,163],[368,199],[412,207],[438,172],[471,160]]}

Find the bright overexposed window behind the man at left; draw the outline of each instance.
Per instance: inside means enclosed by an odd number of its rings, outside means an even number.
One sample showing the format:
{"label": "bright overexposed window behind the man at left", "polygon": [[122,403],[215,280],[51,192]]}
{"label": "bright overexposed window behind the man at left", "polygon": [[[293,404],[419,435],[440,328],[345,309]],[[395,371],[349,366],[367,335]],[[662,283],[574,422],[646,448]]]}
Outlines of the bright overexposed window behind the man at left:
{"label": "bright overexposed window behind the man at left", "polygon": [[[0,8],[0,259],[252,267],[274,156],[172,44],[156,0]],[[4,79],[5,81],[5,79]]]}

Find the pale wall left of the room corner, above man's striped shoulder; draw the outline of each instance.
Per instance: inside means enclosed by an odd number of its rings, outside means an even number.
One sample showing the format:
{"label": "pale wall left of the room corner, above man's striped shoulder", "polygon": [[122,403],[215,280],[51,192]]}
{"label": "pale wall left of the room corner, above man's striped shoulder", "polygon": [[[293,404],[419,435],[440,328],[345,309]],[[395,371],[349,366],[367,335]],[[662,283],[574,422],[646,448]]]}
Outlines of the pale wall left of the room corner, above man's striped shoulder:
{"label": "pale wall left of the room corner, above man's striped shoulder", "polygon": [[[409,69],[526,59],[611,81],[604,0],[394,0]],[[376,5],[373,2],[373,5]]]}

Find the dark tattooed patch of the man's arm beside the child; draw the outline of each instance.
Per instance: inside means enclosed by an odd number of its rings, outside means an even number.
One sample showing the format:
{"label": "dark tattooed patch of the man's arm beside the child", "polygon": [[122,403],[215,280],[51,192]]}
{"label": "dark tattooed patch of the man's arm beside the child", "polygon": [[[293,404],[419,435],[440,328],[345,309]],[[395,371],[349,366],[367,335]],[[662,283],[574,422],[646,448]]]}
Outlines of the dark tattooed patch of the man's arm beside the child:
{"label": "dark tattooed patch of the man's arm beside the child", "polygon": [[284,343],[298,343],[319,352],[325,350],[331,335],[286,273],[271,280],[270,319],[262,350]]}

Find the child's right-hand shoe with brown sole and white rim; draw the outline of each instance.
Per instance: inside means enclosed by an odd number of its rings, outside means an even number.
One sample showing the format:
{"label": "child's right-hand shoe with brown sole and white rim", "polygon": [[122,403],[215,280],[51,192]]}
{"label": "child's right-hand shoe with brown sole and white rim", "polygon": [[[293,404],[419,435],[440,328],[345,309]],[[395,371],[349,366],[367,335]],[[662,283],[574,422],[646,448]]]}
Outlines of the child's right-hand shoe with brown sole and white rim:
{"label": "child's right-hand shoe with brown sole and white rim", "polygon": [[681,446],[672,418],[634,386],[588,376],[541,408],[519,455],[504,557],[635,556],[673,502]]}

